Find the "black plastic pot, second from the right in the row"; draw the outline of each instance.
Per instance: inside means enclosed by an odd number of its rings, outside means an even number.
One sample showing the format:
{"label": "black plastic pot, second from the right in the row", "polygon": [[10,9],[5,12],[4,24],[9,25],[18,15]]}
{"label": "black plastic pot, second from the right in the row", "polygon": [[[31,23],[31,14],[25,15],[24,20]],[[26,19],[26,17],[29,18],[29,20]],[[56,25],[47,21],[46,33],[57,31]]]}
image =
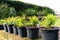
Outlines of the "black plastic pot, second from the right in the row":
{"label": "black plastic pot, second from the right in the row", "polygon": [[27,37],[29,39],[38,39],[39,38],[39,28],[27,27]]}

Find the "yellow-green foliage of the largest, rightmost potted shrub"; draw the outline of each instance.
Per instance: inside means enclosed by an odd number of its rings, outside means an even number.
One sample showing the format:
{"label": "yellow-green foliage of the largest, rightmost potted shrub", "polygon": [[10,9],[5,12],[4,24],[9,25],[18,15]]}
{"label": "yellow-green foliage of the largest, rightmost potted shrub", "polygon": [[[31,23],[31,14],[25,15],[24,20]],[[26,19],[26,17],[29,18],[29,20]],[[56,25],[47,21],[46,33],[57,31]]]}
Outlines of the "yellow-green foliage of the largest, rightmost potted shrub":
{"label": "yellow-green foliage of the largest, rightmost potted shrub", "polygon": [[50,29],[52,25],[54,25],[56,21],[55,15],[47,15],[45,19],[40,22],[41,26],[45,26],[47,29]]}

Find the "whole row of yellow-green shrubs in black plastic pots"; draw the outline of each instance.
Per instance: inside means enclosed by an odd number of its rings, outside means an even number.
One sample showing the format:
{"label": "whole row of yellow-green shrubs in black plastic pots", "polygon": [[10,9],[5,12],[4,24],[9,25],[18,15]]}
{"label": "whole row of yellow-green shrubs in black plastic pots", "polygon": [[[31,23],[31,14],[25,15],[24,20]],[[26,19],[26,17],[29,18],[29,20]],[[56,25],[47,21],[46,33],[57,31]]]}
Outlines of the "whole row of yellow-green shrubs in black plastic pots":
{"label": "whole row of yellow-green shrubs in black plastic pots", "polygon": [[14,33],[21,37],[38,39],[40,28],[42,40],[58,40],[59,29],[54,27],[55,22],[55,15],[47,15],[42,21],[38,20],[36,16],[29,17],[28,20],[23,16],[5,18],[0,23],[4,25],[6,32]]}

